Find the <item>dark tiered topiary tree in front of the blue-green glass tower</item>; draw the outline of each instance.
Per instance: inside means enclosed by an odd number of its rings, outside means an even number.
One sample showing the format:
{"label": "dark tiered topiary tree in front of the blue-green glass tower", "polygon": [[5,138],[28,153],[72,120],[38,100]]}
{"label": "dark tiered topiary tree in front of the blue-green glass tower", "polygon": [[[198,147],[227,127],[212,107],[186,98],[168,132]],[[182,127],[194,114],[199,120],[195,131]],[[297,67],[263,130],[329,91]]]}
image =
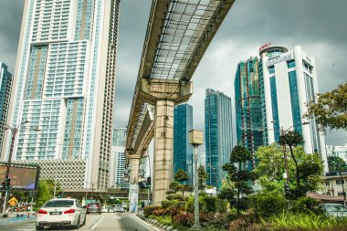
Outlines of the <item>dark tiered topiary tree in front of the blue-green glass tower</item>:
{"label": "dark tiered topiary tree in front of the blue-green glass tower", "polygon": [[[253,192],[252,187],[248,184],[248,181],[253,179],[252,173],[247,168],[243,167],[244,163],[252,159],[252,155],[243,146],[235,146],[230,155],[230,163],[223,165],[222,169],[226,171],[227,177],[234,183],[234,186],[229,192],[224,189],[223,196],[230,196],[233,191],[237,194],[237,211],[240,210],[240,195],[251,194]],[[235,163],[237,163],[238,168]]]}

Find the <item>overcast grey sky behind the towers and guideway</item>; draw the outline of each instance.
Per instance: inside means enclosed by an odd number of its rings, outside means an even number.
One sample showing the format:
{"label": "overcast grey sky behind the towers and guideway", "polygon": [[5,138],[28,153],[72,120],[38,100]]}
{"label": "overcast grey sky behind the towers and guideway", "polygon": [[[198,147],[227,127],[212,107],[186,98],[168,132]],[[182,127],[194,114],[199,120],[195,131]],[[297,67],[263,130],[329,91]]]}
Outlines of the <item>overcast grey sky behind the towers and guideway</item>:
{"label": "overcast grey sky behind the towers and guideway", "polygon": [[[121,0],[115,123],[128,122],[142,55],[151,0]],[[2,0],[0,61],[14,71],[23,0]],[[347,81],[346,0],[236,0],[193,76],[194,127],[204,130],[205,89],[224,92],[234,101],[237,63],[258,56],[266,43],[289,50],[300,45],[316,59],[320,92]],[[234,104],[233,104],[234,107]],[[347,131],[327,133],[327,144],[347,142]]]}

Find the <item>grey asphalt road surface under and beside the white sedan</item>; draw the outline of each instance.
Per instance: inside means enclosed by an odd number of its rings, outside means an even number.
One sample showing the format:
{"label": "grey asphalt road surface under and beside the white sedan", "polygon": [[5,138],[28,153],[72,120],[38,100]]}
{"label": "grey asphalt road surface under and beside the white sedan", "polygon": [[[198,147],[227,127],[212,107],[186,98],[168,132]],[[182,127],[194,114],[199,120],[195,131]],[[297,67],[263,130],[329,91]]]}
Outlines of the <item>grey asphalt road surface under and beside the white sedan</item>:
{"label": "grey asphalt road surface under and beside the white sedan", "polygon": [[[7,218],[0,220],[1,231],[34,231],[35,218]],[[45,230],[77,230],[70,227],[54,227]],[[87,215],[85,226],[79,231],[160,231],[161,229],[145,223],[133,214],[103,213],[102,215]]]}

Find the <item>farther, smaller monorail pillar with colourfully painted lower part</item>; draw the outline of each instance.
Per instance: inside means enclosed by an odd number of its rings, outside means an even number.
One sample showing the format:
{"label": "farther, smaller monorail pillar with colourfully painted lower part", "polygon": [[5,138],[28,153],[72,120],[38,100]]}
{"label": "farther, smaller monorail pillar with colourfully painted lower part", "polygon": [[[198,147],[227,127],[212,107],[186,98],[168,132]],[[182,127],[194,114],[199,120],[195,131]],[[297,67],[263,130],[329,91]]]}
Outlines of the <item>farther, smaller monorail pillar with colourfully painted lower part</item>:
{"label": "farther, smaller monorail pillar with colourfully painted lower part", "polygon": [[137,213],[139,200],[139,167],[140,156],[131,156],[131,175],[129,184],[129,212]]}

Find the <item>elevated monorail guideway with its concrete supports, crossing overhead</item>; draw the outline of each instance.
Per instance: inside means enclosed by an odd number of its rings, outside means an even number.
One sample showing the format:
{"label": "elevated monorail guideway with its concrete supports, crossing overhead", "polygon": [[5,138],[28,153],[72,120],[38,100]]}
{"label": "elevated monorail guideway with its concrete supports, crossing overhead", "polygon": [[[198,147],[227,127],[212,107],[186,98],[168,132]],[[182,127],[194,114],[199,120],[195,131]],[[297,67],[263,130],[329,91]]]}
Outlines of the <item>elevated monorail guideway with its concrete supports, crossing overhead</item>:
{"label": "elevated monorail guideway with its concrete supports, crossing overhead", "polygon": [[172,178],[174,105],[189,100],[192,76],[234,0],[153,0],[128,122],[131,184],[154,138],[153,204]]}

